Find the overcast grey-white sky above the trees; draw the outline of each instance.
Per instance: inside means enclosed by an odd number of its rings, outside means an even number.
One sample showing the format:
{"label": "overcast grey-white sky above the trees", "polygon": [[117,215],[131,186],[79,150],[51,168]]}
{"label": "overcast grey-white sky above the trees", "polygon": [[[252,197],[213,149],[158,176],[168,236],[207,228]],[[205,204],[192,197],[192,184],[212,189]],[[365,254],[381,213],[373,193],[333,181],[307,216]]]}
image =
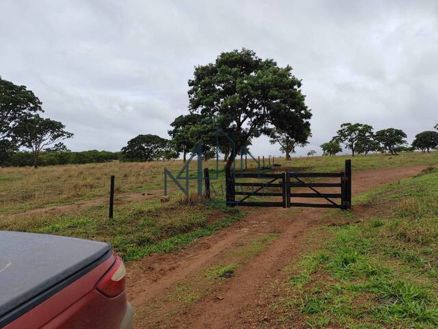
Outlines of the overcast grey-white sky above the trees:
{"label": "overcast grey-white sky above the trees", "polygon": [[[290,64],[313,112],[309,149],[340,123],[438,122],[438,1],[0,0],[0,76],[62,121],[73,150],[168,137],[194,66],[246,47]],[[279,155],[266,138],[255,155]]]}

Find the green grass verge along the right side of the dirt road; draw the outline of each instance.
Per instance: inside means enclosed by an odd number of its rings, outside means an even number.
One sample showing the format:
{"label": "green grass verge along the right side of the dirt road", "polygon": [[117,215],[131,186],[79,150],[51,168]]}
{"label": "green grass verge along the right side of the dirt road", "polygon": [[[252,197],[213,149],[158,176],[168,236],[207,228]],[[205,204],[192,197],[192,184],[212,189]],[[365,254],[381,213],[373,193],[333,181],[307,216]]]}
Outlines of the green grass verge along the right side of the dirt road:
{"label": "green grass verge along the right side of the dirt road", "polygon": [[305,328],[437,328],[438,169],[329,212],[314,252],[287,268],[279,321]]}

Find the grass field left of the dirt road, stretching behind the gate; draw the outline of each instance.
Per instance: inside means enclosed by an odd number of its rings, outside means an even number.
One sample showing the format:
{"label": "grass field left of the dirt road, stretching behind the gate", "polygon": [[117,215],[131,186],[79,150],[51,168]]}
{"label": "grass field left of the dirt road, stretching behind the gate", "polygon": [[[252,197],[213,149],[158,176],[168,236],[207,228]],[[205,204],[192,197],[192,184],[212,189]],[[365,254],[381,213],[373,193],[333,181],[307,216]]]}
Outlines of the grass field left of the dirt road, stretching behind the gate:
{"label": "grass field left of the dirt road, stretching behind the gate", "polygon": [[[297,171],[339,171],[350,156],[275,158]],[[267,160],[266,160],[267,164]],[[438,164],[438,152],[400,156],[356,156],[353,170]],[[171,201],[160,204],[164,190],[164,167],[177,173],[181,160],[173,162],[107,162],[54,167],[0,169],[0,230],[21,230],[77,236],[112,243],[125,260],[151,252],[165,252],[211,234],[242,217],[240,210],[185,200],[174,190]],[[209,161],[205,167],[214,169]],[[248,160],[248,167],[255,162]],[[237,161],[237,168],[240,162]],[[196,163],[190,166],[195,174]],[[107,219],[110,175],[116,175],[116,208]],[[220,172],[223,180],[223,171]],[[216,183],[215,183],[216,184]],[[192,189],[192,191],[195,191]],[[138,198],[150,193],[149,198]],[[125,198],[127,195],[134,197]],[[70,206],[62,208],[63,206]],[[38,210],[44,211],[38,211]],[[62,210],[64,209],[64,210]],[[53,210],[53,211],[52,211]]]}

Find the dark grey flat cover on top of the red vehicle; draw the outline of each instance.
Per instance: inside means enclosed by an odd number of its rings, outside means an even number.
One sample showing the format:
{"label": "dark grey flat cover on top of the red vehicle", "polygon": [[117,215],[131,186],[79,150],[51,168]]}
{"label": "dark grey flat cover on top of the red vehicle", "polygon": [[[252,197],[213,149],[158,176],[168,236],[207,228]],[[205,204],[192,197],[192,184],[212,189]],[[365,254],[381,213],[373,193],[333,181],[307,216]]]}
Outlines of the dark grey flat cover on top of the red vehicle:
{"label": "dark grey flat cover on top of the red vehicle", "polygon": [[110,250],[103,242],[0,231],[0,319],[60,282],[71,280]]}

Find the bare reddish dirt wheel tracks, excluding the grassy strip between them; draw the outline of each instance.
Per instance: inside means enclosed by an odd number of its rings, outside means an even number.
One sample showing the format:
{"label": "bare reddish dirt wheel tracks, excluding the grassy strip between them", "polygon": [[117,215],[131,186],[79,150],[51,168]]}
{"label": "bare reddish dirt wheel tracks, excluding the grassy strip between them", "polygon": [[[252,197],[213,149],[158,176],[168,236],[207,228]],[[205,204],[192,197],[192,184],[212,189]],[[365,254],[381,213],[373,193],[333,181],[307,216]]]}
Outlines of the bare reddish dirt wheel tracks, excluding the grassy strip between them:
{"label": "bare reddish dirt wheel tracks, excluding the grassy strip between them", "polygon": [[[372,187],[419,173],[427,166],[396,169],[372,169],[353,171],[352,191],[358,195]],[[199,239],[198,243],[181,252],[151,255],[128,264],[129,300],[136,313],[141,313],[154,297],[162,295],[175,283],[190,278],[195,271],[214,263],[216,258],[240,239],[248,239],[257,232],[279,232],[279,238],[256,256],[239,275],[223,284],[216,291],[224,299],[217,300],[214,294],[207,295],[194,304],[183,317],[155,319],[155,325],[144,317],[136,318],[136,328],[252,328],[247,319],[254,304],[259,303],[259,293],[267,281],[277,280],[287,262],[300,254],[307,233],[322,223],[326,210],[319,208],[296,208],[298,215],[285,216],[283,208],[250,209],[248,215],[230,228],[213,236]],[[263,226],[268,222],[269,226]],[[248,226],[257,226],[251,230]],[[246,315],[244,317],[244,314]]]}

